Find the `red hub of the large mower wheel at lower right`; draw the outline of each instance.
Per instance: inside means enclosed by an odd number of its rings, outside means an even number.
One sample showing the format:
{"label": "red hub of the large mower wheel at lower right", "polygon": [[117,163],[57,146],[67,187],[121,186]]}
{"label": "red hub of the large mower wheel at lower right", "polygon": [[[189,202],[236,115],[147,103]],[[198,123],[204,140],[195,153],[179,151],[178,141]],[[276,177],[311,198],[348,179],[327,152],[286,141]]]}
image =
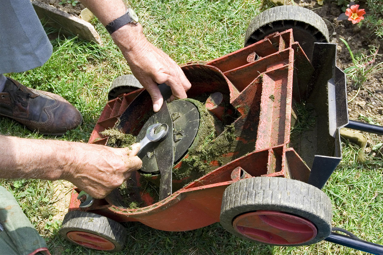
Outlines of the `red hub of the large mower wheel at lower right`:
{"label": "red hub of the large mower wheel at lower right", "polygon": [[302,244],[316,237],[315,225],[308,219],[280,211],[245,213],[233,221],[243,236],[273,245]]}

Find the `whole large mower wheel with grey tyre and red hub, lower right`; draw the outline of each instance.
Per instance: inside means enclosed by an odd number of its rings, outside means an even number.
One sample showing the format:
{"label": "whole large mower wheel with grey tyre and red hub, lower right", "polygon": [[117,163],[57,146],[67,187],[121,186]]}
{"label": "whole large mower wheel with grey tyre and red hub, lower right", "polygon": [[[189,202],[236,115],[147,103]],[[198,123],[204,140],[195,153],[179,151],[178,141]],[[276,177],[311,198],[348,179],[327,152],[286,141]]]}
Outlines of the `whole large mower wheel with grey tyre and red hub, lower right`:
{"label": "whole large mower wheel with grey tyre and red hub, lower right", "polygon": [[227,231],[253,242],[309,245],[329,236],[331,208],[330,198],[312,185],[280,177],[253,177],[226,188],[220,222]]}

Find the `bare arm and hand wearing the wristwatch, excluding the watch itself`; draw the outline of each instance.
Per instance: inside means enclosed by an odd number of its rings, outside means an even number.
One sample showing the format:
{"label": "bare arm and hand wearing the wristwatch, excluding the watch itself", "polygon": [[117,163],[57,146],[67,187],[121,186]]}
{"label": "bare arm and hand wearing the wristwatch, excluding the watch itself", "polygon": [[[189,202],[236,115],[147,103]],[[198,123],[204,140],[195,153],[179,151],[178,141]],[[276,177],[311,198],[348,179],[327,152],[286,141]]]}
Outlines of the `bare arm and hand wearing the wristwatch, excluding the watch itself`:
{"label": "bare arm and hand wearing the wristwatch, excluding the watch itself", "polygon": [[[82,0],[87,8],[106,26],[126,12],[122,0]],[[126,24],[111,34],[128,61],[133,75],[152,97],[153,110],[159,111],[164,99],[157,84],[167,84],[173,92],[170,100],[186,98],[191,84],[181,68],[162,50],[147,41],[141,24]]]}

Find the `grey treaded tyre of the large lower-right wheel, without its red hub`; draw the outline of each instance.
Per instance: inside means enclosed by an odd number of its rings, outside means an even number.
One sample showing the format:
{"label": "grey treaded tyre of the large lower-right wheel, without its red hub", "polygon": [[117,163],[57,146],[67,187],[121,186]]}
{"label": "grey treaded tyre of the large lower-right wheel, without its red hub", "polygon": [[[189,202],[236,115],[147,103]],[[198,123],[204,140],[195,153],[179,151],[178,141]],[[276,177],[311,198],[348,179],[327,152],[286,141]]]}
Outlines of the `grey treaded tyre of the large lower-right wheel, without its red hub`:
{"label": "grey treaded tyre of the large lower-right wheel, without its red hub", "polygon": [[299,245],[319,242],[331,232],[330,198],[318,188],[298,180],[253,177],[229,185],[223,193],[220,222],[232,234],[247,239],[234,230],[232,221],[239,214],[256,210],[285,211],[316,224],[318,235]]}

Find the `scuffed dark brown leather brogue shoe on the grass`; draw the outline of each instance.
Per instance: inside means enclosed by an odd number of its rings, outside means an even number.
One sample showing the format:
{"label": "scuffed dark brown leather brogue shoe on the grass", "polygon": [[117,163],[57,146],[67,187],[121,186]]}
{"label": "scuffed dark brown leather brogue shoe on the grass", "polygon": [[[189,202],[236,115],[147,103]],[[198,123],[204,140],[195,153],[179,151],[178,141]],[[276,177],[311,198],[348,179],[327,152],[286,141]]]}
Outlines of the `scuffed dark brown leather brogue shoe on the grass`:
{"label": "scuffed dark brown leather brogue shoe on the grass", "polygon": [[82,123],[79,110],[61,96],[27,88],[8,77],[0,93],[0,116],[44,135],[63,135]]}

